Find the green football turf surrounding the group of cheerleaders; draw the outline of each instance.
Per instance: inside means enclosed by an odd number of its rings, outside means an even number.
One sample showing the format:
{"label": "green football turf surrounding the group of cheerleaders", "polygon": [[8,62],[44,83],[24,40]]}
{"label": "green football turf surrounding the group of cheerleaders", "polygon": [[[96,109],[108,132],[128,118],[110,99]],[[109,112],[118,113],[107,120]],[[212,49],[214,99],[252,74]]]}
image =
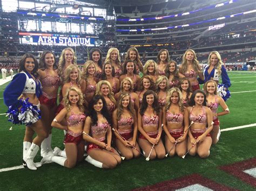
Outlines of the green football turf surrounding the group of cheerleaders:
{"label": "green football turf surrounding the group of cheerleaders", "polygon": [[[146,161],[140,157],[122,161],[114,169],[97,168],[83,161],[73,169],[51,163],[37,171],[10,170],[22,165],[25,128],[7,121],[4,115],[7,108],[3,103],[6,84],[0,86],[0,190],[131,190],[163,181],[186,181],[186,177],[193,174],[231,189],[255,190],[256,186],[220,168],[256,158],[256,72],[228,72],[228,75],[232,83],[231,98],[226,102],[230,114],[219,117],[220,128],[253,124],[251,127],[221,132],[219,143],[211,147],[207,159],[187,155],[185,159],[175,156]],[[11,126],[13,130],[9,130]],[[63,131],[53,129],[52,135],[52,148],[64,148]],[[35,161],[40,160],[38,152]]]}

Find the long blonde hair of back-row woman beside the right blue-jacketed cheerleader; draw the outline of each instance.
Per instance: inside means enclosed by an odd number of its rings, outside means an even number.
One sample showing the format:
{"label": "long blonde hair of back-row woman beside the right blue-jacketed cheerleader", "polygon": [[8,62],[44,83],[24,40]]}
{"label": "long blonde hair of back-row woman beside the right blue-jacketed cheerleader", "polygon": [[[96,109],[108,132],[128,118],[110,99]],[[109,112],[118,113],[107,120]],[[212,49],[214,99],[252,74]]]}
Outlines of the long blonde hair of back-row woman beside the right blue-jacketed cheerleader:
{"label": "long blonde hair of back-row woman beside the right blue-jacketed cheerleader", "polygon": [[199,61],[197,60],[197,55],[196,53],[192,50],[192,49],[187,49],[186,52],[183,54],[182,56],[182,62],[181,62],[181,65],[180,65],[180,73],[181,74],[185,74],[187,72],[187,60],[186,60],[186,55],[187,55],[187,52],[192,52],[193,53],[193,61],[192,61],[192,66],[193,66],[193,69],[196,73],[200,73],[201,72],[201,69],[200,69],[200,66],[199,66]]}

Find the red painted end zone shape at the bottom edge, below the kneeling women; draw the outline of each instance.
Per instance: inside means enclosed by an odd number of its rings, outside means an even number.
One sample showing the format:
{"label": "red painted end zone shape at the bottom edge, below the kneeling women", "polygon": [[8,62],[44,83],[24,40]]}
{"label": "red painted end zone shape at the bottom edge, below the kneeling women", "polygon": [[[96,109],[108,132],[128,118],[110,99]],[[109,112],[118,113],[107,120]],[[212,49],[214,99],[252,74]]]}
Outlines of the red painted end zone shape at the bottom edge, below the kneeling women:
{"label": "red painted end zone shape at the bottom edge, below the kneeling women", "polygon": [[175,190],[191,186],[196,183],[213,190],[235,190],[233,188],[221,185],[217,182],[207,179],[199,174],[191,174],[178,179],[159,182],[156,185],[136,188],[134,190]]}

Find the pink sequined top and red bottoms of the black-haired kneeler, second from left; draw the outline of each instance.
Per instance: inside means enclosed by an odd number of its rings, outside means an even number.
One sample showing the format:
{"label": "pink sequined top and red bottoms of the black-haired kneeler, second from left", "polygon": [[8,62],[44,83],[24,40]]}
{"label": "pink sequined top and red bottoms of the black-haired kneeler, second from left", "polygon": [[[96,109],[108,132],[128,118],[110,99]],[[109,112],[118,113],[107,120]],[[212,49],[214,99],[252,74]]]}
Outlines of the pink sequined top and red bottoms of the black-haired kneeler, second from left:
{"label": "pink sequined top and red bottoms of the black-haired kneeler, second from left", "polygon": [[[97,125],[92,125],[91,126],[91,134],[92,134],[92,137],[94,136],[94,135],[100,135],[100,134],[106,134],[106,132],[107,132],[107,128],[109,128],[109,126],[110,126],[110,124],[109,123],[107,123],[107,122],[105,122],[105,123],[98,123]],[[100,138],[94,138],[93,137],[93,139],[96,139],[96,140],[98,140],[98,141],[100,141],[100,142],[103,142],[103,143],[105,143],[105,136],[104,137],[100,137]],[[89,143],[88,145],[87,145],[87,149],[86,149],[86,152],[88,153],[90,150],[92,150],[93,148],[100,148],[100,149],[102,149],[103,150],[103,148],[102,147],[100,147],[99,145],[96,145],[96,144],[94,144],[94,143]]]}

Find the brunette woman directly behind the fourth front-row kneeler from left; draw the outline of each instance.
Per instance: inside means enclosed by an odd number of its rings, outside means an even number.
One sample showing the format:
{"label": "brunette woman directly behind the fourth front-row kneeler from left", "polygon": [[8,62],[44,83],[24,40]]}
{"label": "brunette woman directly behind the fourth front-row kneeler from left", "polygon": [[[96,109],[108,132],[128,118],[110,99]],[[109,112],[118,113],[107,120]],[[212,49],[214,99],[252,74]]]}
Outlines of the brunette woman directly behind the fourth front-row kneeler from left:
{"label": "brunette woman directly behind the fourth front-row kneeler from left", "polygon": [[155,87],[154,87],[154,81],[152,80],[152,78],[149,75],[145,75],[140,79],[140,83],[139,83],[139,90],[136,93],[138,94],[139,97],[139,105],[142,105],[142,98],[143,98],[143,94],[147,91],[147,90],[153,90],[154,91]]}

